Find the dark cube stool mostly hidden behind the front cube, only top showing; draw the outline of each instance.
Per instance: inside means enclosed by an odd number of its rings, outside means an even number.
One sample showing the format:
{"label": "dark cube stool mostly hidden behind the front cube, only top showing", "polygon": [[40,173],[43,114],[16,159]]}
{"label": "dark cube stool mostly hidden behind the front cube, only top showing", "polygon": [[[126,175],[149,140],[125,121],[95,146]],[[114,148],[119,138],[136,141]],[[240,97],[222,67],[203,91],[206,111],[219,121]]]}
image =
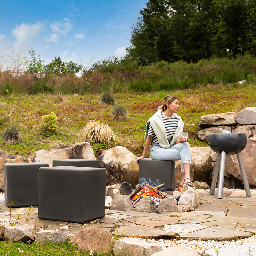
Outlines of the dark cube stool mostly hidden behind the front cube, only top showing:
{"label": "dark cube stool mostly hidden behind the front cube, only top showing", "polygon": [[97,167],[99,168],[99,160],[92,159],[53,159],[52,166],[79,166],[79,167]]}

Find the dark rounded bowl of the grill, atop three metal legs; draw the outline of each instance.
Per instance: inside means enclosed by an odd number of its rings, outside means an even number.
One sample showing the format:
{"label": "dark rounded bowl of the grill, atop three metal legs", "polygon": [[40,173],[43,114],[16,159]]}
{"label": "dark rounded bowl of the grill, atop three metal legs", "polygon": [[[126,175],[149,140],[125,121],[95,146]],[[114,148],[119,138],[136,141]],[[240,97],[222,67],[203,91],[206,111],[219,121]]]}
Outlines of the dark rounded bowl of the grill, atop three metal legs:
{"label": "dark rounded bowl of the grill, atop three metal legs", "polygon": [[214,152],[220,154],[225,151],[230,156],[245,148],[247,137],[245,133],[210,133],[208,143]]}

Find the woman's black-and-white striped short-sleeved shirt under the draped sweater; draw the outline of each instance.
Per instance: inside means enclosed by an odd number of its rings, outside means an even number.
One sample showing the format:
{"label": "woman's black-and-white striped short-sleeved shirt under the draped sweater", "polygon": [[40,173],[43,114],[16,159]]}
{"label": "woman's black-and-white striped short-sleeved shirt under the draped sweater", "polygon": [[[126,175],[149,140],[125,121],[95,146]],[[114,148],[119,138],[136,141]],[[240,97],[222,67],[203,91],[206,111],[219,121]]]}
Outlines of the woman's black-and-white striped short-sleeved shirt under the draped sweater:
{"label": "woman's black-and-white striped short-sleeved shirt under the draped sweater", "polygon": [[[173,138],[173,136],[176,132],[176,129],[178,127],[178,119],[175,116],[172,116],[172,117],[165,116],[164,113],[161,113],[161,116],[162,116],[162,120],[164,123],[166,135],[167,135],[167,140],[169,143],[171,143],[172,138]],[[151,124],[149,124],[148,135],[153,137],[151,140],[152,142],[158,143],[158,139],[156,137],[156,134],[155,134]]]}

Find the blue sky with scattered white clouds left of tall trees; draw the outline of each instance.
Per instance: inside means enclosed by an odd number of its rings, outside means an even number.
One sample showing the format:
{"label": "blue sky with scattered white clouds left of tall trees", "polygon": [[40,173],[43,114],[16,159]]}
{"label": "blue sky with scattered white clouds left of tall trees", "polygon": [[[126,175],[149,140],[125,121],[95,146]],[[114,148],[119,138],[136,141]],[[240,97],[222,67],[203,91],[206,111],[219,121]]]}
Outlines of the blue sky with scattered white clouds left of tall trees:
{"label": "blue sky with scattered white clouds left of tall trees", "polygon": [[[0,0],[0,65],[10,55],[30,56],[45,64],[54,57],[84,67],[125,55],[131,26],[147,0]],[[12,53],[14,52],[14,54]]]}

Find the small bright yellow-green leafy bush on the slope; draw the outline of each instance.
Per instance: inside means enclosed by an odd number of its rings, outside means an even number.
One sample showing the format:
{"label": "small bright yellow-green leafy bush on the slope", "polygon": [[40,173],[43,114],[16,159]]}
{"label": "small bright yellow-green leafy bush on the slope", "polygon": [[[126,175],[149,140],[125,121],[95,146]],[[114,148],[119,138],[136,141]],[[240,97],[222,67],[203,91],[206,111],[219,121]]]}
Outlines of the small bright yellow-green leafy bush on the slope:
{"label": "small bright yellow-green leafy bush on the slope", "polygon": [[45,136],[50,136],[57,133],[58,118],[55,113],[51,112],[49,115],[41,117],[41,132]]}

